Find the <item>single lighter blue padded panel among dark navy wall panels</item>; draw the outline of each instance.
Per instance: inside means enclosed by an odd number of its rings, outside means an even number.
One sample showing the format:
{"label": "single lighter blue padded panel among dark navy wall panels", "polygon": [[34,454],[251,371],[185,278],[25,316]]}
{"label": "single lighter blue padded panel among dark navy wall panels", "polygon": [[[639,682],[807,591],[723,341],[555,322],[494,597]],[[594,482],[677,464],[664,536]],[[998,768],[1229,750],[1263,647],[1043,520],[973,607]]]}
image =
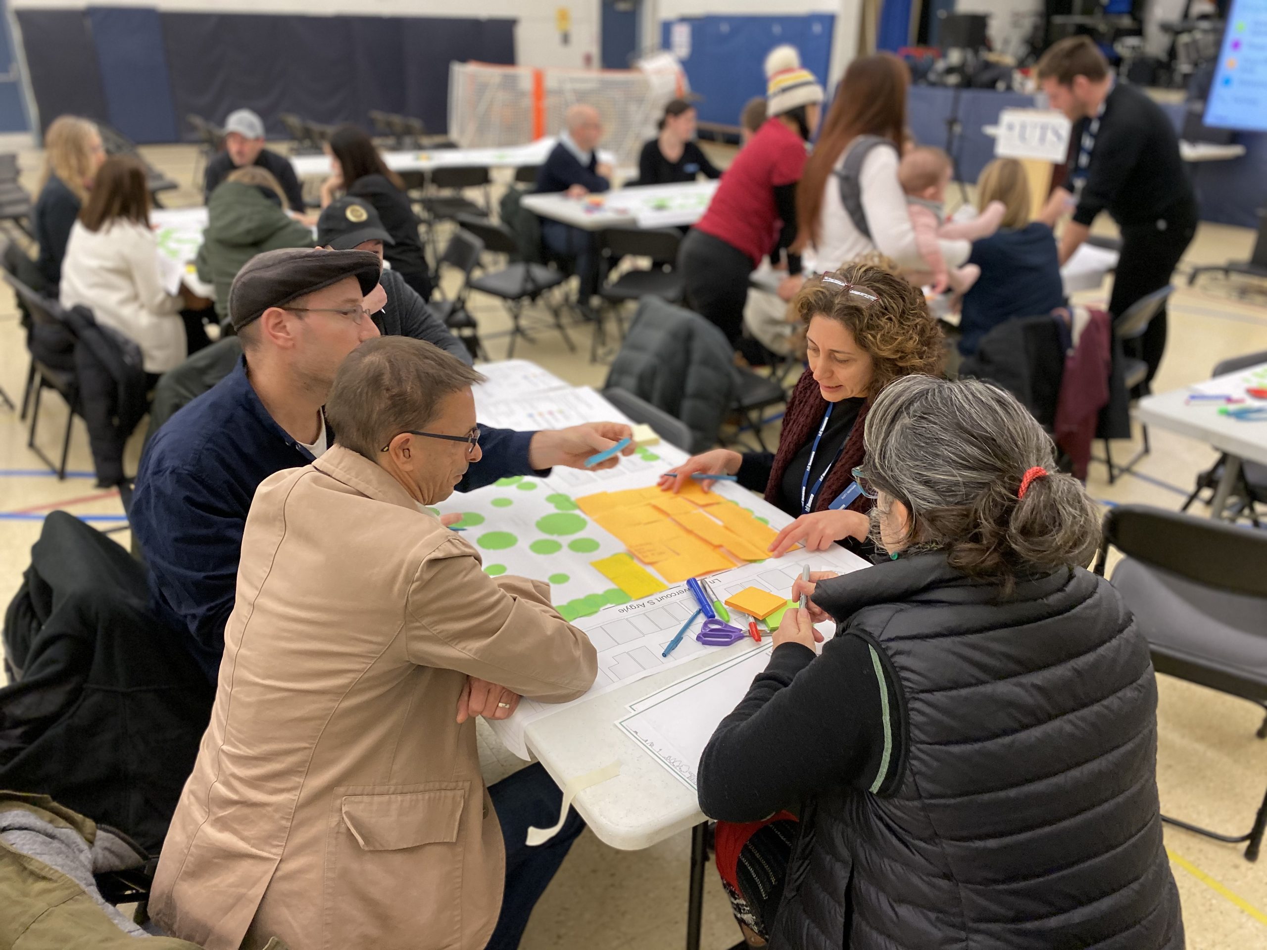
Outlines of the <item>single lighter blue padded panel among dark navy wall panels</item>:
{"label": "single lighter blue padded panel among dark navy wall panels", "polygon": [[133,142],[175,142],[158,11],[90,6],[87,20],[110,124]]}

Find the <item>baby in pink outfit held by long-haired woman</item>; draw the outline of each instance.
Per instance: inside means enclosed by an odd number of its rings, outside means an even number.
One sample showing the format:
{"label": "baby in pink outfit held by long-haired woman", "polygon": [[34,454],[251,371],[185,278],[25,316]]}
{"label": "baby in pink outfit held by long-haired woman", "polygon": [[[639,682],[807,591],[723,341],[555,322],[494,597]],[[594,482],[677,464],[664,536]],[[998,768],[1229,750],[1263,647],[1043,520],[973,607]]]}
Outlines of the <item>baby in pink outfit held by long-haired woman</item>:
{"label": "baby in pink outfit held by long-haired woman", "polygon": [[897,176],[906,193],[906,209],[915,229],[915,246],[920,257],[929,265],[926,274],[908,274],[915,285],[933,284],[940,294],[948,288],[955,296],[963,296],[968,288],[977,282],[981,267],[965,263],[962,267],[946,267],[938,241],[977,241],[998,231],[1007,208],[1002,201],[991,201],[976,218],[967,222],[943,220],[943,203],[946,185],[950,184],[953,166],[950,156],[940,148],[917,146],[902,156]]}

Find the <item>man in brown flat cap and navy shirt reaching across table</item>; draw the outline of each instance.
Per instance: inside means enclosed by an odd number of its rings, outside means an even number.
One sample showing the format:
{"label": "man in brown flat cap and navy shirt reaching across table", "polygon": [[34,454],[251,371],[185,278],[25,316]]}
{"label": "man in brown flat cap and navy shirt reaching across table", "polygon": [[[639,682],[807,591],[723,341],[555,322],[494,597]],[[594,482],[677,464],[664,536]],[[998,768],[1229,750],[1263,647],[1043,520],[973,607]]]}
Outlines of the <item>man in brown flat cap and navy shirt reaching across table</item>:
{"label": "man in brown flat cap and navy shirt reaching across table", "polygon": [[[153,605],[188,633],[184,642],[212,681],[251,499],[266,478],[308,465],[333,441],[322,407],[343,358],[379,336],[364,305],[378,286],[379,258],[367,251],[296,248],[251,258],[229,290],[242,358],[163,423],[141,459],[129,521],[150,567]],[[620,423],[485,428],[481,459],[457,488],[544,476],[554,465],[583,467],[630,434]]]}

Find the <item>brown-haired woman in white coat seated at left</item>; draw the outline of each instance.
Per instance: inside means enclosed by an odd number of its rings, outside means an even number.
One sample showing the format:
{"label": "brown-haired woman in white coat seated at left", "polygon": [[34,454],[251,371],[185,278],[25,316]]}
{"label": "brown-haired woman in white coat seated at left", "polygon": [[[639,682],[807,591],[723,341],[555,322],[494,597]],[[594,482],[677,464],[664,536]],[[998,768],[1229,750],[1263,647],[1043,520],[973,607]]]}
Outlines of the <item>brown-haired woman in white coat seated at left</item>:
{"label": "brown-haired woman in white coat seated at left", "polygon": [[66,244],[60,298],[134,341],[150,374],[166,372],[209,342],[201,315],[182,312],[182,295],[163,286],[139,160],[111,156],[98,171]]}

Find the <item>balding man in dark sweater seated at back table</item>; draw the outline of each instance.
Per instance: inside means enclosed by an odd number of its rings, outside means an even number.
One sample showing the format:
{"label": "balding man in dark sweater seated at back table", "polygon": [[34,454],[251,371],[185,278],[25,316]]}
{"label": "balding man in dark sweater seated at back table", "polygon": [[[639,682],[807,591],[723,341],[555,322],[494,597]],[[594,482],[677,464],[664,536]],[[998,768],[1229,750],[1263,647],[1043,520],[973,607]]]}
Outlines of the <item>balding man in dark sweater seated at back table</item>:
{"label": "balding man in dark sweater seated at back table", "polygon": [[[559,144],[537,172],[537,191],[566,191],[569,198],[607,191],[612,186],[612,170],[598,161],[598,142],[602,137],[603,122],[594,106],[578,104],[568,109],[568,130],[559,137]],[[580,277],[580,303],[588,304],[598,289],[598,247],[594,236],[546,218],[541,222],[541,241],[554,255],[573,262]]]}

